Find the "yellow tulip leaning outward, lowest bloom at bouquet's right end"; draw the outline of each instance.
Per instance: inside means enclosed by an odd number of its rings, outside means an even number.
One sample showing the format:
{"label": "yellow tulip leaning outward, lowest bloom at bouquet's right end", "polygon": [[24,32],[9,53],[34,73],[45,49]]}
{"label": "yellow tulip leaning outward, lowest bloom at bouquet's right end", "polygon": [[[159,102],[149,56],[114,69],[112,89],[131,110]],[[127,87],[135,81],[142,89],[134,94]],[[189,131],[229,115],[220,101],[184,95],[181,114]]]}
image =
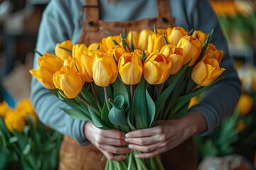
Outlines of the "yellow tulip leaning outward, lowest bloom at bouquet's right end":
{"label": "yellow tulip leaning outward, lowest bloom at bouquet's right end", "polygon": [[193,68],[191,77],[196,84],[200,86],[208,86],[215,81],[224,70],[225,69],[220,68],[217,60],[206,57],[196,64]]}

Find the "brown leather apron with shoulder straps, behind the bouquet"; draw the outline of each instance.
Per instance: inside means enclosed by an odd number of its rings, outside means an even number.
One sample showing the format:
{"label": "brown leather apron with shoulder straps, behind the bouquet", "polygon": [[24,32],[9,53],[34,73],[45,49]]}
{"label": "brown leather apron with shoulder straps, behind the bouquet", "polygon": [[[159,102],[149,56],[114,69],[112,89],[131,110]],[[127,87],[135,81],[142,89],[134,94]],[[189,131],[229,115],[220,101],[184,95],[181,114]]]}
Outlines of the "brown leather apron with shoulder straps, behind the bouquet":
{"label": "brown leather apron with shoulder straps, behind the bouquet", "polygon": [[[129,30],[168,28],[174,26],[174,18],[170,16],[169,0],[156,0],[156,18],[146,18],[130,22],[106,22],[100,20],[98,0],[85,0],[85,23],[80,35],[80,43],[90,45],[101,42],[109,35],[119,35]],[[81,147],[71,137],[65,136],[60,147],[60,170],[100,170],[105,169],[105,161],[101,161],[102,152],[93,145]],[[161,154],[161,161],[166,170],[195,170],[196,149],[190,138],[178,147]],[[111,170],[111,169],[110,169]]]}

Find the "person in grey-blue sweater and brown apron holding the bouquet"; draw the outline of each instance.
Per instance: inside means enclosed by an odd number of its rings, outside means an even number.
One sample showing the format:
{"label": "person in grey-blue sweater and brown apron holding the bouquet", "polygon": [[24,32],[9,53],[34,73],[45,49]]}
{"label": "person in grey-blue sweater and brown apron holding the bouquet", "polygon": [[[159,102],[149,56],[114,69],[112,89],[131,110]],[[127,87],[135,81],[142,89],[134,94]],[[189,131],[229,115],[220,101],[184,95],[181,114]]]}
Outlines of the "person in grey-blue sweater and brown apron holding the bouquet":
{"label": "person in grey-blue sweater and brown apron holding the bouquet", "polygon": [[[209,1],[203,0],[54,0],[43,13],[36,51],[52,52],[59,42],[100,42],[123,30],[181,27],[214,33],[210,39],[224,51],[225,68],[218,84],[211,86],[201,101],[182,118],[158,120],[153,128],[121,132],[102,130],[94,124],[71,118],[60,108],[65,103],[32,79],[31,99],[43,123],[65,135],[60,149],[60,169],[104,169],[102,155],[113,161],[134,152],[141,159],[161,156],[165,169],[196,169],[193,135],[206,135],[232,113],[240,96],[240,80],[228,55],[227,44]],[[69,49],[72,46],[63,44]],[[70,49],[72,50],[72,49]],[[63,50],[64,52],[65,50]],[[38,55],[35,55],[34,68]],[[128,146],[128,147],[124,147]]]}

